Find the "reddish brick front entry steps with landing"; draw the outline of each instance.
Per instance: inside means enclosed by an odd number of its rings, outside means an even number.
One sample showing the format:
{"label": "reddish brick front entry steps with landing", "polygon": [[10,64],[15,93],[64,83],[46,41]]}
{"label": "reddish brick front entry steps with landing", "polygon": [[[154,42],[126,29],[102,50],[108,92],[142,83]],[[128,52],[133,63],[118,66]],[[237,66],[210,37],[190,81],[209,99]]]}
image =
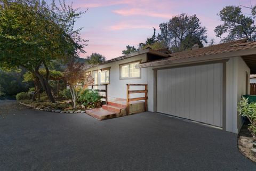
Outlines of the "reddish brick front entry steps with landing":
{"label": "reddish brick front entry steps with landing", "polygon": [[[130,104],[129,115],[143,111],[145,111],[145,102],[134,101]],[[102,105],[102,108],[86,110],[86,113],[99,120],[126,116],[126,99],[108,97],[108,104]]]}

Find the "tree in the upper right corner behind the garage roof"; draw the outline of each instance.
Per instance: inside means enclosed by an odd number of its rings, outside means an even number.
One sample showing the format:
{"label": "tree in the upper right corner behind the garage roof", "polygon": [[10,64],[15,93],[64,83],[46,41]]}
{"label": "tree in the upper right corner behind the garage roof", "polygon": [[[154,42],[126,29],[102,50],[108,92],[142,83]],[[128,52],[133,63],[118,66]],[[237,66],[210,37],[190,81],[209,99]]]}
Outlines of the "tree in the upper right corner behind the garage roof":
{"label": "tree in the upper right corner behind the garage roof", "polygon": [[218,14],[223,24],[215,28],[216,36],[222,37],[228,34],[222,38],[222,42],[240,38],[247,38],[250,41],[256,40],[255,10],[256,6],[252,7],[251,16],[246,16],[239,6],[224,7]]}

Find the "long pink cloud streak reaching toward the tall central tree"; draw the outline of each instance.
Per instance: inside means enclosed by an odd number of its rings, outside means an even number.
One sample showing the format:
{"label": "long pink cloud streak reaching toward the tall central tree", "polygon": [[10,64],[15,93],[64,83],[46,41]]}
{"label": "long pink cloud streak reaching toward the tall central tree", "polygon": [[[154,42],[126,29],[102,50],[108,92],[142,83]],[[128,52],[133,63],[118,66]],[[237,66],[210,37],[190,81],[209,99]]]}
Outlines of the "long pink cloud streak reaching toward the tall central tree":
{"label": "long pink cloud streak reaching toward the tall central tree", "polygon": [[166,18],[170,19],[173,15],[161,12],[154,12],[145,9],[120,9],[113,11],[116,14],[123,15],[123,16],[130,16],[130,15],[145,15],[148,17],[158,17],[158,18]]}

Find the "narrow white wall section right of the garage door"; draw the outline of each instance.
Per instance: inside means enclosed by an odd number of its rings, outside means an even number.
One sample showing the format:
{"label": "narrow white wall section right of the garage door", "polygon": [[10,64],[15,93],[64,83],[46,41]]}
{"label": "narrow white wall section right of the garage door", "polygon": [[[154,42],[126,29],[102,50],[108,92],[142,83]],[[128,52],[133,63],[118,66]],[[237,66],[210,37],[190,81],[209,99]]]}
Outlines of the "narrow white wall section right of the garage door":
{"label": "narrow white wall section right of the garage door", "polygon": [[250,75],[250,69],[239,56],[230,58],[227,62],[226,129],[234,133],[238,133],[242,126],[242,118],[237,113],[237,103],[241,96],[246,94],[246,71]]}

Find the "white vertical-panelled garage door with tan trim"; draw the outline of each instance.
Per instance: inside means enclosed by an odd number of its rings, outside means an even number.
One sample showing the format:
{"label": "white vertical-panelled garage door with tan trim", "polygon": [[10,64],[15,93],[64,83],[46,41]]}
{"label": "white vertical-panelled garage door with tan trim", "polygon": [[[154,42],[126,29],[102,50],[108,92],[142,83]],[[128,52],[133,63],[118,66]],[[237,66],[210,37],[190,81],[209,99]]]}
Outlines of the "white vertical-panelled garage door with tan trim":
{"label": "white vertical-panelled garage door with tan trim", "polygon": [[222,64],[158,70],[157,112],[222,127]]}

